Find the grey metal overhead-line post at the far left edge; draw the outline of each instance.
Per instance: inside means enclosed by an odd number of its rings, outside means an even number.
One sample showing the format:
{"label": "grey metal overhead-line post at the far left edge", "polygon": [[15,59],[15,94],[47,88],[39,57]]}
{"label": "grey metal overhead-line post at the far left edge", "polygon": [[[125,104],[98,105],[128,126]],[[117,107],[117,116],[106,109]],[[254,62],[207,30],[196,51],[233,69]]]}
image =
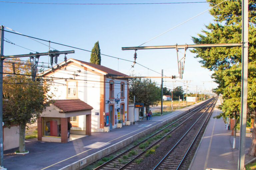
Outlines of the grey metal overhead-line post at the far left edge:
{"label": "grey metal overhead-line post at the far left edge", "polygon": [[[0,56],[4,55],[4,26],[1,25]],[[3,123],[3,61],[0,59],[0,125]],[[3,126],[0,126],[0,169],[4,166]]]}

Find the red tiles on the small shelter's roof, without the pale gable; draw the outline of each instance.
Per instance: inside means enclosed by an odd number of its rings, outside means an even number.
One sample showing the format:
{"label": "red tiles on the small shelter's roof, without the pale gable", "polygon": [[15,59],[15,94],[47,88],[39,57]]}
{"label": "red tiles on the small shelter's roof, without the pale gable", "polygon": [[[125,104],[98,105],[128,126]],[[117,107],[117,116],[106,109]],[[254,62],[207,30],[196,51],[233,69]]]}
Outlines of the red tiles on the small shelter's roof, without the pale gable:
{"label": "red tiles on the small shelter's roof, without the pale gable", "polygon": [[78,112],[93,109],[93,107],[81,101],[80,99],[55,100],[53,104],[62,110],[60,113]]}

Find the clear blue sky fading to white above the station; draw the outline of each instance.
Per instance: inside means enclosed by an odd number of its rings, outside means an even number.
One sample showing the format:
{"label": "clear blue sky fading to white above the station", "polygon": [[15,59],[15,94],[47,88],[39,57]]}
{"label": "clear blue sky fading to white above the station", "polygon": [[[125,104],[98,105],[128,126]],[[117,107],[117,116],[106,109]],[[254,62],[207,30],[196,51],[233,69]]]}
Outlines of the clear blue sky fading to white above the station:
{"label": "clear blue sky fading to white above the station", "polygon": [[[40,1],[21,0],[12,2],[38,3],[168,3],[168,2],[204,2],[204,0],[73,0],[73,1]],[[102,54],[107,54],[127,60],[133,60],[134,50],[121,50],[121,47],[138,46],[151,38],[175,27],[193,16],[209,9],[208,3],[188,4],[154,4],[154,5],[48,5],[4,3],[1,5],[1,25],[9,27],[24,35],[50,40],[70,46],[91,50],[99,41]],[[213,22],[213,17],[206,12],[168,33],[144,44],[143,46],[193,44],[191,36],[197,36],[205,25]],[[5,30],[7,30],[5,28]],[[9,31],[9,30],[8,30]],[[11,42],[37,52],[47,52],[48,46],[42,45],[23,36],[5,32],[5,38]],[[43,42],[48,45],[48,42]],[[56,44],[50,44],[58,50],[73,50]],[[90,52],[74,49],[74,54],[68,58],[89,62]],[[5,42],[4,55],[27,54],[33,52]],[[175,49],[138,50],[137,62],[159,73],[164,69],[164,75],[178,75],[177,55]],[[181,53],[179,54],[181,55]],[[211,81],[212,72],[201,67],[200,59],[194,58],[187,50],[183,79],[169,82],[165,78],[164,86],[183,86],[188,81],[189,92],[207,91],[217,87]],[[60,55],[59,62],[64,55]],[[48,62],[48,56],[41,56],[40,62]],[[138,76],[161,76],[138,64],[131,69],[133,63],[117,60],[101,55],[101,65],[130,74],[132,70]],[[161,82],[161,79],[153,79]],[[191,80],[191,81],[190,81]],[[185,83],[186,84],[186,83]]]}

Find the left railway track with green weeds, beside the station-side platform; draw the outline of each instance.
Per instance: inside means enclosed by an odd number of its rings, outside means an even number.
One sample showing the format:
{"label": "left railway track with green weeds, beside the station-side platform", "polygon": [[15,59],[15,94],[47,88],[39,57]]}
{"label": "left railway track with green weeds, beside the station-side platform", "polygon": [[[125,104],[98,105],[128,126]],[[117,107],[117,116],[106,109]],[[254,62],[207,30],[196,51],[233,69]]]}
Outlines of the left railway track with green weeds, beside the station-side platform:
{"label": "left railway track with green weeds, beside the station-side platform", "polygon": [[179,131],[179,128],[182,127],[182,125],[186,124],[186,122],[195,119],[195,117],[199,117],[200,114],[198,113],[202,109],[205,109],[210,105],[212,105],[212,100],[205,102],[198,108],[192,110],[175,122],[160,129],[159,131],[144,139],[140,143],[132,146],[131,148],[115,156],[114,158],[105,162],[94,170],[134,169],[135,166],[145,158],[145,156],[148,156],[149,154],[151,154],[151,152],[155,151],[158,146],[168,140],[168,138],[170,138],[173,133]]}

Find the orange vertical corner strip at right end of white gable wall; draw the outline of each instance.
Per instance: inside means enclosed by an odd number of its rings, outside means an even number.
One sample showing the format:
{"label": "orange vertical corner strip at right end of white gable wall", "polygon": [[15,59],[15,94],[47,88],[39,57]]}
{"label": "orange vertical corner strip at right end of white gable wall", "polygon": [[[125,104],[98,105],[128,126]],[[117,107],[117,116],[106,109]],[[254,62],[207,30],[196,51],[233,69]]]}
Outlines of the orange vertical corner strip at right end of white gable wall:
{"label": "orange vertical corner strip at right end of white gable wall", "polygon": [[104,127],[104,115],[103,112],[105,111],[105,103],[104,103],[104,90],[105,90],[105,77],[102,75],[100,76],[100,128]]}

